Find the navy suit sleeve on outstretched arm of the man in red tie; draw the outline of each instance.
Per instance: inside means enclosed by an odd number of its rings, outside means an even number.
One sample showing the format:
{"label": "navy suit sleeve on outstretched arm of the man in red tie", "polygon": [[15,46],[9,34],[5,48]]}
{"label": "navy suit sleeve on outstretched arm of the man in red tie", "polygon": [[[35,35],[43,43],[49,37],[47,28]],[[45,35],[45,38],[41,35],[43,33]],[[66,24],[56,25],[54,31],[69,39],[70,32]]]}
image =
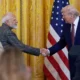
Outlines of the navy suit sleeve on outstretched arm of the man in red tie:
{"label": "navy suit sleeve on outstretched arm of the man in red tie", "polygon": [[60,40],[54,46],[49,48],[50,55],[53,55],[54,53],[58,52],[65,46],[66,46],[66,41],[65,41],[64,32],[63,32]]}

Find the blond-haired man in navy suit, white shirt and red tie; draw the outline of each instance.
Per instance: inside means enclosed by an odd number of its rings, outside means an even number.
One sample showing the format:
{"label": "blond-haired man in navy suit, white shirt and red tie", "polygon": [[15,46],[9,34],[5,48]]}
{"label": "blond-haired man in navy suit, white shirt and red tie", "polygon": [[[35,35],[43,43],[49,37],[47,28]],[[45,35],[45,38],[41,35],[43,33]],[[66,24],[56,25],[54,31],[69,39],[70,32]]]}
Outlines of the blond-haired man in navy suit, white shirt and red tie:
{"label": "blond-haired man in navy suit, white shirt and red tie", "polygon": [[[53,55],[57,51],[64,48],[66,45],[68,51],[73,45],[80,45],[80,17],[79,12],[73,6],[66,6],[61,10],[63,19],[66,24],[63,27],[63,32],[60,40],[49,49],[44,49],[44,53],[47,55]],[[80,57],[75,59],[69,56],[71,80],[80,80]],[[79,76],[76,74],[78,73]]]}

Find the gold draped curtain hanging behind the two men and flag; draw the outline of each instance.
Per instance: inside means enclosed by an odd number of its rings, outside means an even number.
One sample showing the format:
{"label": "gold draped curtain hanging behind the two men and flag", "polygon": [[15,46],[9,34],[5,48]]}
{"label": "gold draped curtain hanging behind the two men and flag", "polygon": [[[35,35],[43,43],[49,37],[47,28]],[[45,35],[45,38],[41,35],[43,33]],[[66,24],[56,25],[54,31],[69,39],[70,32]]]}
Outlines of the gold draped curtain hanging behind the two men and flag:
{"label": "gold draped curtain hanging behind the two men and flag", "polygon": [[[18,38],[33,47],[46,47],[51,8],[54,0],[0,0],[0,25],[6,12],[13,12],[18,20],[18,29],[14,30]],[[70,0],[80,11],[80,1]],[[24,54],[25,63],[33,70],[32,80],[44,80],[42,56]]]}

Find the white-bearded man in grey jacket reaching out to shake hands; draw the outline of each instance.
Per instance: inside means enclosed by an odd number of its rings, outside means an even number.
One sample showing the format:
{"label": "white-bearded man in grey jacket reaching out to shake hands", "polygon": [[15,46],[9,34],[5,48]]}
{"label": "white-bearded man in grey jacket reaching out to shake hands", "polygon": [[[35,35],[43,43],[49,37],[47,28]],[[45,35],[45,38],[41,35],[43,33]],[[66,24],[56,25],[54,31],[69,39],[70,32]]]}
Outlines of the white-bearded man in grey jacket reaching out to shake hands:
{"label": "white-bearded man in grey jacket reaching out to shake hands", "polygon": [[[17,23],[16,16],[12,13],[7,13],[2,18],[2,26],[0,27],[0,42],[2,43],[2,46],[16,46],[23,52],[39,56],[42,49],[23,44],[18,40],[16,34],[11,31],[12,29],[17,28]],[[44,54],[42,53],[42,55]]]}

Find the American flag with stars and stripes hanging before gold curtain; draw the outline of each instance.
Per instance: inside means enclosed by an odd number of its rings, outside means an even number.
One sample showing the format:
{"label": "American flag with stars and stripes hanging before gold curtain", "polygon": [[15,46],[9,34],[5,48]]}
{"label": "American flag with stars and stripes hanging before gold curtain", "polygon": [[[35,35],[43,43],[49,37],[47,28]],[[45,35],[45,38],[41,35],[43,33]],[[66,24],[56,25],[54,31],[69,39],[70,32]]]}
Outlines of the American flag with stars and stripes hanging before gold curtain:
{"label": "American flag with stars and stripes hanging before gold curtain", "polygon": [[[61,9],[68,4],[68,0],[54,1],[50,21],[50,31],[48,33],[47,48],[54,45],[60,39],[64,24]],[[47,80],[70,80],[68,51],[66,47],[53,56],[45,57],[44,73]]]}

